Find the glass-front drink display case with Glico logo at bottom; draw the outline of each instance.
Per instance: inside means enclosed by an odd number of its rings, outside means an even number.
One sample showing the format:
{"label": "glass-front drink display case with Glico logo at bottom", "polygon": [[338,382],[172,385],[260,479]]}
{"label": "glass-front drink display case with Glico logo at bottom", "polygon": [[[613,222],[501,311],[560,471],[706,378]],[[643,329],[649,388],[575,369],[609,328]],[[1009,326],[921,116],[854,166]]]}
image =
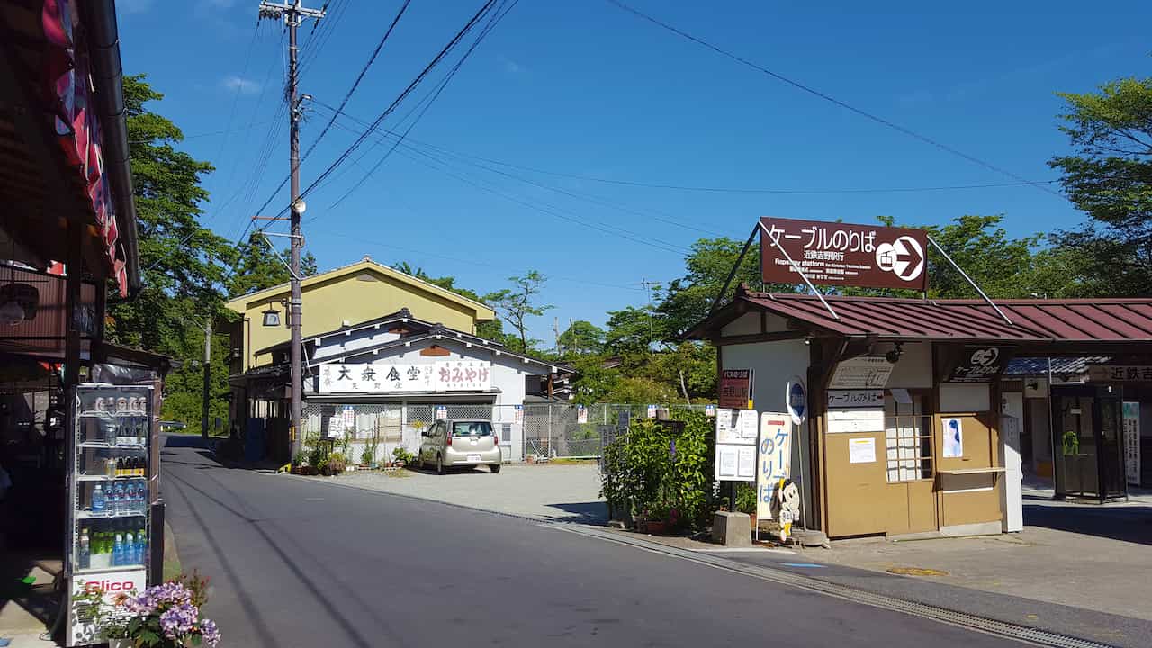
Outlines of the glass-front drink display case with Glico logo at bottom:
{"label": "glass-front drink display case with Glico logo at bottom", "polygon": [[[77,385],[73,397],[66,573],[69,592],[99,589],[104,604],[146,586],[151,520],[151,386]],[[74,601],[68,646],[100,642],[92,610]]]}

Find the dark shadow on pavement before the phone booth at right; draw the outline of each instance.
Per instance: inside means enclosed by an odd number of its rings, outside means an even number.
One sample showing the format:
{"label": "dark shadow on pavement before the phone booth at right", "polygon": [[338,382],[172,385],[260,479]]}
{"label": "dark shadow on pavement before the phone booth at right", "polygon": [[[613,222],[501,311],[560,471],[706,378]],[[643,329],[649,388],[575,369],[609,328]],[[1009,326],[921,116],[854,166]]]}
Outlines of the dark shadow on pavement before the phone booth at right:
{"label": "dark shadow on pavement before the phone booth at right", "polygon": [[1024,523],[1033,527],[1070,532],[1123,542],[1152,544],[1152,507],[1052,506],[1024,503]]}

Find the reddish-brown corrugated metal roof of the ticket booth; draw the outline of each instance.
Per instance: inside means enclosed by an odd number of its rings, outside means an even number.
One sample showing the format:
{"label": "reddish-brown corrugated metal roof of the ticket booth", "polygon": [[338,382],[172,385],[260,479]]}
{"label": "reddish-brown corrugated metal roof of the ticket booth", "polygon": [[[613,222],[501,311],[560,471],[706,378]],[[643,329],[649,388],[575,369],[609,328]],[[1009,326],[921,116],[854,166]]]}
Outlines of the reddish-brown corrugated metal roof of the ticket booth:
{"label": "reddish-brown corrugated metal roof of the ticket booth", "polygon": [[[841,336],[889,339],[1007,341],[1152,341],[1152,299],[996,300],[1005,322],[979,300],[917,300],[737,293],[745,302]],[[721,324],[722,325],[722,324]],[[708,323],[704,324],[705,327]]]}

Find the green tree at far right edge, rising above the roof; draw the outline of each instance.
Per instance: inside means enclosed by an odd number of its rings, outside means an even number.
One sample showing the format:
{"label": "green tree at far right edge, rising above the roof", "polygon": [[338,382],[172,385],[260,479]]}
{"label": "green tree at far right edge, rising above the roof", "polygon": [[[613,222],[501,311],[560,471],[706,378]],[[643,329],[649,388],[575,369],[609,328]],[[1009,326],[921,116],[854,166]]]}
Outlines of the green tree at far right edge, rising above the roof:
{"label": "green tree at far right edge, rising above the roof", "polygon": [[[1075,253],[1083,292],[1152,292],[1152,78],[1121,78],[1097,92],[1059,93],[1074,155],[1056,156],[1068,198],[1091,219],[1054,236]],[[1067,261],[1067,257],[1066,257]]]}

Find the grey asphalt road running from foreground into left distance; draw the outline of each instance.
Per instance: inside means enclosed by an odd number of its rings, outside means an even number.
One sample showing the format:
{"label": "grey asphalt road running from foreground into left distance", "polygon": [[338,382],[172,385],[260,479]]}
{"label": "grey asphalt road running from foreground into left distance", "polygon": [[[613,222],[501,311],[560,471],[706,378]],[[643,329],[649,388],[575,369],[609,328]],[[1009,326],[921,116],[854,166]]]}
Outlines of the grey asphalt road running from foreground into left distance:
{"label": "grey asphalt road running from foreground into left distance", "polygon": [[537,522],[228,469],[191,440],[169,439],[162,488],[225,646],[1018,646]]}

